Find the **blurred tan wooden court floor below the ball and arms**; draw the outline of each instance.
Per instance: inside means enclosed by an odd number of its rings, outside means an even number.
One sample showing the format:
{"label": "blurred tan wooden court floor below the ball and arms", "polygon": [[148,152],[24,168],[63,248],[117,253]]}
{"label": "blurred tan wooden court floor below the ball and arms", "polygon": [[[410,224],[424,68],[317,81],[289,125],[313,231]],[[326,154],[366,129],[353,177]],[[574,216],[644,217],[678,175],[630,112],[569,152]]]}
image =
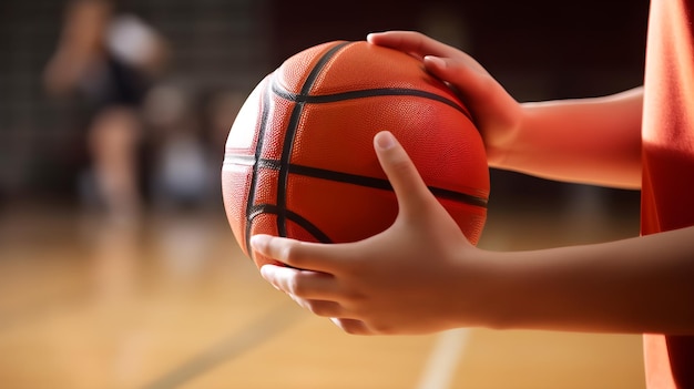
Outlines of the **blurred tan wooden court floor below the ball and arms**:
{"label": "blurred tan wooden court floor below the ball and arms", "polygon": [[[629,218],[573,216],[490,211],[480,245],[636,232]],[[263,281],[221,212],[152,214],[133,229],[69,208],[8,207],[0,350],[0,387],[12,389],[644,387],[639,336],[345,335]]]}

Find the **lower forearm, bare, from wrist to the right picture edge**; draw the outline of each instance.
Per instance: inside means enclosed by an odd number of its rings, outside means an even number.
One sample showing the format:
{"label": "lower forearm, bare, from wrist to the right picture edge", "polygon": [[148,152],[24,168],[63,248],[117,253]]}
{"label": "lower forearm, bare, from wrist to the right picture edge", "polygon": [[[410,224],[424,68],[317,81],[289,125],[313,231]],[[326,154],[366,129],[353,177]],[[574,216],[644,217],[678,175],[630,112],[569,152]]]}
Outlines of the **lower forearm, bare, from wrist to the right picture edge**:
{"label": "lower forearm, bare, from wrist to the right picture edge", "polygon": [[694,334],[694,227],[493,258],[491,327]]}

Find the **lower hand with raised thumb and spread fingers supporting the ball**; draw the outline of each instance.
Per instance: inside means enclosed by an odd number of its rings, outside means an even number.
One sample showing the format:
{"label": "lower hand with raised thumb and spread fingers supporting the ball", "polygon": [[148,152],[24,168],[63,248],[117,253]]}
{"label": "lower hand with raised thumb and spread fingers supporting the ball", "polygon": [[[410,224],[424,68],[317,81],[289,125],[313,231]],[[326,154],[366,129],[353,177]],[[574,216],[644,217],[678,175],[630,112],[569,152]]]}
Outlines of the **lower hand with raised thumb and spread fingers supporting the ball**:
{"label": "lower hand with raised thumb and spread fingers supporting the ball", "polygon": [[422,334],[470,324],[478,295],[468,298],[468,290],[484,283],[468,258],[482,250],[466,239],[390,133],[377,134],[375,149],[400,206],[394,224],[348,244],[256,235],[253,249],[288,265],[264,265],[263,277],[349,334]]}

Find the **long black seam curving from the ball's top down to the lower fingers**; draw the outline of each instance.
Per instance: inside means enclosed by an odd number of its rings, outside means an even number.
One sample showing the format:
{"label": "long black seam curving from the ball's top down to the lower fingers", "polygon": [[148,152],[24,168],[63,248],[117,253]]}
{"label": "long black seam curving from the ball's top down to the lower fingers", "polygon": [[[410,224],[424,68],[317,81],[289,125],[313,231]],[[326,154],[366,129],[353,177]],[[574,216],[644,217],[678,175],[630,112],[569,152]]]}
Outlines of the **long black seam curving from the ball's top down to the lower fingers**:
{"label": "long black seam curving from the ball's top down to the lower fingers", "polygon": [[[318,60],[318,62],[316,62],[314,68],[308,73],[308,76],[306,78],[306,81],[304,82],[304,85],[300,89],[302,94],[306,94],[308,93],[308,91],[310,91],[314,83],[318,79],[318,74],[320,74],[320,71],[323,70],[323,68],[325,68],[325,65],[328,63],[330,58],[333,58],[340,49],[351,43],[353,42],[336,43],[322,55],[322,58]],[[272,81],[273,81],[272,84],[274,85],[276,83],[275,76],[273,76]],[[304,104],[305,102],[300,102],[300,101],[296,102],[296,105],[294,105],[294,109],[292,110],[292,114],[289,115],[289,123],[287,124],[287,129],[285,132],[284,142],[283,142],[282,156],[279,158],[279,174],[277,176],[277,206],[278,206],[277,234],[279,236],[287,236],[287,226],[286,226],[287,195],[286,193],[287,193],[287,182],[288,182],[288,176],[289,176],[289,171],[287,170],[287,166],[289,165],[289,158],[294,150],[294,139],[296,136],[296,131],[299,125],[299,117],[302,116]]]}

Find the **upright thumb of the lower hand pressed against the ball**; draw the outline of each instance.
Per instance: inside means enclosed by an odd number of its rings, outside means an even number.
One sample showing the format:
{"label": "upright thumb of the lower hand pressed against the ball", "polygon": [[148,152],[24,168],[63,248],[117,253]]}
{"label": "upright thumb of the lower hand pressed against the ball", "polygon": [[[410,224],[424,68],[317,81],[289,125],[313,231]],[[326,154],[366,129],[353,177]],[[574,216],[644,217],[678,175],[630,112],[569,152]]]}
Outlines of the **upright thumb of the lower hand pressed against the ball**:
{"label": "upright thumb of the lower hand pressed against the ball", "polygon": [[374,136],[374,149],[398,198],[400,214],[407,216],[428,208],[433,195],[395,136],[388,131],[379,132]]}

